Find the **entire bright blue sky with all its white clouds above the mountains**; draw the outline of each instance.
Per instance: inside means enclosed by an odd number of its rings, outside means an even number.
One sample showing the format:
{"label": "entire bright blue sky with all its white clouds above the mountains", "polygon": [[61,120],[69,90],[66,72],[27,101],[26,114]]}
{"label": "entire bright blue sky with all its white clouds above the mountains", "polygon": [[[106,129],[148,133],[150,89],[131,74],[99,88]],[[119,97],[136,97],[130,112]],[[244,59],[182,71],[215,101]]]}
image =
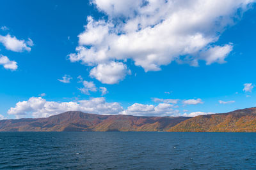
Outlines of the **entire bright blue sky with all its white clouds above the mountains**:
{"label": "entire bright blue sky with all its white clouds above the mountains", "polygon": [[256,106],[254,0],[10,0],[0,15],[0,119]]}

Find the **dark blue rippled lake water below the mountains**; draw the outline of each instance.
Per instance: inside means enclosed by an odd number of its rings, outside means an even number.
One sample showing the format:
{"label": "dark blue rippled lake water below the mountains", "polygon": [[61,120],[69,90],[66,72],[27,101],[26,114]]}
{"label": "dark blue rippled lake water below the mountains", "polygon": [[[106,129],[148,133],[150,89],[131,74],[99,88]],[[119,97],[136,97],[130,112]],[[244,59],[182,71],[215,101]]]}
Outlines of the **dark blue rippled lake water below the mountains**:
{"label": "dark blue rippled lake water below the mountains", "polygon": [[256,169],[256,133],[0,132],[0,169]]}

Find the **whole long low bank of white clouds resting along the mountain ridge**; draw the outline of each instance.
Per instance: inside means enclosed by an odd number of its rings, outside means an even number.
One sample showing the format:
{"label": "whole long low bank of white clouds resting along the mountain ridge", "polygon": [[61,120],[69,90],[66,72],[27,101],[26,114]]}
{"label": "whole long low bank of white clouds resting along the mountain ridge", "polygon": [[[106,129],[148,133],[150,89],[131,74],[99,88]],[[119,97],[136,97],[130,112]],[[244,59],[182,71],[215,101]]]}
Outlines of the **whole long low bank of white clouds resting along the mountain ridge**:
{"label": "whole long low bank of white clouds resting along the mountain ridge", "polygon": [[91,98],[78,102],[56,102],[46,101],[42,97],[30,97],[28,101],[19,101],[15,107],[8,110],[9,115],[16,118],[22,117],[49,117],[65,111],[83,111],[85,113],[95,113],[100,115],[134,115],[134,116],[177,116],[179,110],[173,109],[172,104],[159,103],[152,104],[134,103],[124,110],[120,103],[107,103],[104,97]]}

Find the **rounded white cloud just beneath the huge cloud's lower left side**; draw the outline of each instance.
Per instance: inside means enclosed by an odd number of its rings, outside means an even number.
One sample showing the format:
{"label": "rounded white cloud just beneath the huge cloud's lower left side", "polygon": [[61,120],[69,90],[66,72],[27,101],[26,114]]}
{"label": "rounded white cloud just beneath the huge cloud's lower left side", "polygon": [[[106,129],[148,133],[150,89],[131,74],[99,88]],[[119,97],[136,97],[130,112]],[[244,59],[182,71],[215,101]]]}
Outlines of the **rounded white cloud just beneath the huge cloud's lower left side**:
{"label": "rounded white cloud just beneath the huge cloud's lower left side", "polygon": [[110,62],[109,64],[99,64],[90,71],[90,76],[102,83],[115,84],[123,80],[126,74],[131,74],[127,66],[122,62]]}

